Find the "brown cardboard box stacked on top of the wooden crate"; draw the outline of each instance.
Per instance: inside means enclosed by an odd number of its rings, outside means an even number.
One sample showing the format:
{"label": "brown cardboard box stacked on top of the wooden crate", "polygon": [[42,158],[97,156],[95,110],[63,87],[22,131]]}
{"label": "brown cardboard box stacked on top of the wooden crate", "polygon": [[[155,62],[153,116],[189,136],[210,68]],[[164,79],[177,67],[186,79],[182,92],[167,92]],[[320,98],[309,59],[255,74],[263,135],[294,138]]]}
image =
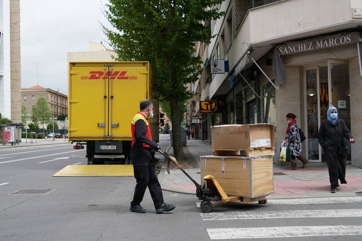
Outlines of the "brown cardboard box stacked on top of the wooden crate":
{"label": "brown cardboard box stacked on top of the wooden crate", "polygon": [[242,150],[275,147],[273,124],[211,126],[214,150]]}

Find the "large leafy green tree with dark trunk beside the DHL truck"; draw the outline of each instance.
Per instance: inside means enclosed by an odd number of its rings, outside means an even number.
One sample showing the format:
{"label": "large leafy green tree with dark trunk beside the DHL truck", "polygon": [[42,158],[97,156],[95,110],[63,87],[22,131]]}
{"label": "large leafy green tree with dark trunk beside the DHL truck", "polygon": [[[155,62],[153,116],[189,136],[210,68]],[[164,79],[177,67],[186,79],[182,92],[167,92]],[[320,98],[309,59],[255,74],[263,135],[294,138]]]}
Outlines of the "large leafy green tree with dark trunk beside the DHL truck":
{"label": "large leafy green tree with dark trunk beside the DHL truck", "polygon": [[[150,61],[156,81],[154,96],[170,103],[173,150],[183,159],[180,134],[180,103],[194,94],[186,83],[202,72],[200,57],[194,57],[195,42],[210,42],[210,26],[203,20],[224,14],[217,6],[223,0],[109,0],[104,14],[114,30],[102,26],[119,61]],[[207,10],[205,10],[207,9]]]}

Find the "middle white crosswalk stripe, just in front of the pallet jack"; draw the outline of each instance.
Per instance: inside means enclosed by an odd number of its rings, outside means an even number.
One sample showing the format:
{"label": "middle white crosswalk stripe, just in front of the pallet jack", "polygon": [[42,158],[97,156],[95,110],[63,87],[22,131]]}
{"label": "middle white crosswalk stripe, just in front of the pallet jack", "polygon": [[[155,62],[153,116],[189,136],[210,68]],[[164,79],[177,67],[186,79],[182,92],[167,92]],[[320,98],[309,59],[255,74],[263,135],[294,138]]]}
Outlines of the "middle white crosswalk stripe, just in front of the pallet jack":
{"label": "middle white crosswalk stripe, just in front of the pallet jack", "polygon": [[267,218],[342,218],[362,217],[362,209],[213,212],[201,213],[200,215],[204,221]]}

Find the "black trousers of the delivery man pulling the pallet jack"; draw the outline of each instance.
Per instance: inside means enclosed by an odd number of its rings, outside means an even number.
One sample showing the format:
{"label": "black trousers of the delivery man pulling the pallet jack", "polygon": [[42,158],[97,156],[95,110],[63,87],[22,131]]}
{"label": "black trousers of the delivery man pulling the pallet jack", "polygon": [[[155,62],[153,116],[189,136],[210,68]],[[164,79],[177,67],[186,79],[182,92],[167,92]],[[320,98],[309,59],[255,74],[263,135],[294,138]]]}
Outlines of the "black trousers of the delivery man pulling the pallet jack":
{"label": "black trousers of the delivery man pulling the pallet jack", "polygon": [[153,162],[150,149],[132,146],[130,155],[133,161],[133,171],[137,183],[131,206],[140,205],[144,192],[148,187],[155,208],[160,208],[164,202],[163,194],[156,176],[155,163]]}

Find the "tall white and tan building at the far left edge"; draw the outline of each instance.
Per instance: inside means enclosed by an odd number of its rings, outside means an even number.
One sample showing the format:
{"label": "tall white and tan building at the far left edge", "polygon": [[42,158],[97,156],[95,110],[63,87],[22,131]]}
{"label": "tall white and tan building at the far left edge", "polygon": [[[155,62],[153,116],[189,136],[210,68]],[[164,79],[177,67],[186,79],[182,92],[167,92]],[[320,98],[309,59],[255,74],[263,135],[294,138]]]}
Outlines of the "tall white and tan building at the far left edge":
{"label": "tall white and tan building at the far left edge", "polygon": [[20,1],[0,1],[0,113],[21,122]]}

